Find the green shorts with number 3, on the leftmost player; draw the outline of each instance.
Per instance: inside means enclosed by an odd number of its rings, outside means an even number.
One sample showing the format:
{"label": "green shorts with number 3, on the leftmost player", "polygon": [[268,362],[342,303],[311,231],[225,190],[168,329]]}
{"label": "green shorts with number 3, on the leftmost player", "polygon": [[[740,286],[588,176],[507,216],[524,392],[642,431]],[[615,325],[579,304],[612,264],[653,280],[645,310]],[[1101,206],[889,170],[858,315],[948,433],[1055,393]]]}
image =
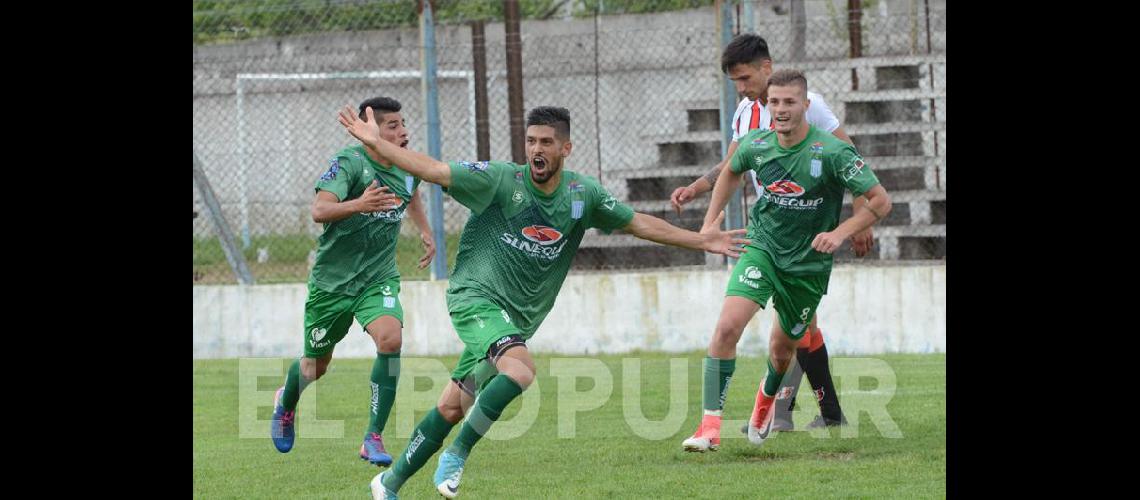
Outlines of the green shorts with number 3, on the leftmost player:
{"label": "green shorts with number 3, on the leftmost player", "polygon": [[376,281],[357,296],[328,293],[310,282],[309,298],[304,301],[304,356],[320,358],[333,352],[349,333],[353,315],[361,327],[382,315],[393,317],[402,326],[400,278]]}

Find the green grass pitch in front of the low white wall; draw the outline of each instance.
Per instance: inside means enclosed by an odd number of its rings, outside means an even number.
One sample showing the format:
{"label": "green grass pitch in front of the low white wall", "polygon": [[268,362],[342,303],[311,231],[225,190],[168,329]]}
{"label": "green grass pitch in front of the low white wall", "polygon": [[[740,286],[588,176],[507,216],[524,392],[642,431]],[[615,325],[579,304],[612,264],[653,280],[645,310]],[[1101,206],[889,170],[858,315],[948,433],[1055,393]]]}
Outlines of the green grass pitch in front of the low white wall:
{"label": "green grass pitch in front of the low white wall", "polygon": [[[474,449],[464,470],[461,498],[946,495],[944,354],[832,356],[840,402],[857,425],[824,433],[779,433],[762,448],[749,444],[739,427],[751,411],[764,362],[740,358],[728,391],[722,448],[703,454],[681,451],[681,441],[701,418],[702,353],[640,353],[585,361],[553,354],[536,358],[537,391],[531,387],[528,394],[534,395],[513,402],[492,435]],[[670,376],[674,358],[682,359],[682,368],[687,364],[687,370],[682,370],[687,380]],[[640,377],[624,368],[624,359],[627,363],[628,359],[640,361]],[[455,362],[455,356],[404,360],[400,391],[384,433],[390,453],[404,451],[414,421],[439,394],[439,385],[433,384],[445,383],[446,369]],[[253,366],[259,368],[251,369]],[[560,384],[552,366],[560,371],[567,366],[589,369],[600,378]],[[195,498],[368,498],[368,481],[380,469],[359,460],[357,453],[367,424],[372,360],[334,360],[329,372],[302,395],[296,443],[283,454],[268,438],[268,420],[272,391],[280,385],[285,367],[285,360],[194,361]],[[868,376],[874,370],[866,371],[866,367],[879,367],[878,382]],[[883,369],[893,374],[894,384],[881,375]],[[592,405],[594,400],[576,400],[570,394],[604,393],[605,379],[612,380],[612,394],[596,401],[604,404],[577,413],[567,411],[576,403]],[[670,391],[670,383],[676,384],[676,391]],[[635,387],[640,397],[633,396]],[[889,415],[901,437],[886,436],[889,431],[878,425],[881,420],[872,412],[856,411],[874,408],[874,401],[885,397],[890,400],[879,415]],[[654,427],[665,437],[640,437],[635,426],[627,424],[625,415],[630,407],[640,407],[650,421],[670,421],[670,401],[677,425]],[[819,412],[806,378],[798,403],[795,419],[804,426]],[[520,411],[522,408],[526,410]],[[529,410],[535,408],[537,418],[527,426],[526,417],[534,415]],[[307,418],[319,419],[326,433],[329,421],[333,426],[342,421],[343,429],[332,438],[306,438],[307,424],[310,434],[315,433]],[[570,434],[571,421],[573,437],[559,437],[560,432]],[[498,427],[519,431],[521,436],[492,438]],[[456,434],[457,428],[443,445]],[[857,436],[845,436],[848,434]],[[435,458],[438,454],[408,479],[400,498],[439,498],[430,483]]]}

